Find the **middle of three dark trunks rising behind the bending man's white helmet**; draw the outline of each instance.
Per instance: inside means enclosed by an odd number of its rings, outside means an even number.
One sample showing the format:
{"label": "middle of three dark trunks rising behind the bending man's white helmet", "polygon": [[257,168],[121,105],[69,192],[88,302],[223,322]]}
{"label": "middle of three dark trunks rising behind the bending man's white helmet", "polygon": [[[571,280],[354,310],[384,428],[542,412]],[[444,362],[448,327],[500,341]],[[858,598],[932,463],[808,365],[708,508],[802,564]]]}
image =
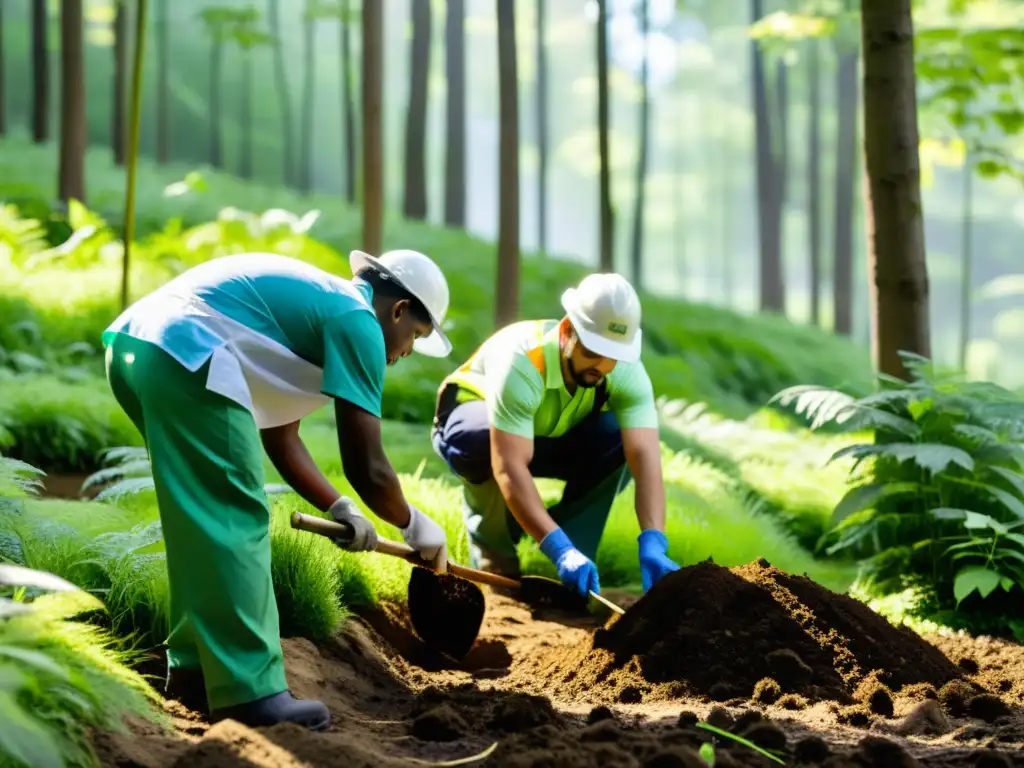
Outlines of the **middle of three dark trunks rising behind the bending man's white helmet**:
{"label": "middle of three dark trunks rising behind the bending man's white helmet", "polygon": [[430,0],[413,0],[413,51],[409,57],[409,113],[406,118],[406,184],[401,210],[407,218],[427,217],[427,83],[430,77]]}

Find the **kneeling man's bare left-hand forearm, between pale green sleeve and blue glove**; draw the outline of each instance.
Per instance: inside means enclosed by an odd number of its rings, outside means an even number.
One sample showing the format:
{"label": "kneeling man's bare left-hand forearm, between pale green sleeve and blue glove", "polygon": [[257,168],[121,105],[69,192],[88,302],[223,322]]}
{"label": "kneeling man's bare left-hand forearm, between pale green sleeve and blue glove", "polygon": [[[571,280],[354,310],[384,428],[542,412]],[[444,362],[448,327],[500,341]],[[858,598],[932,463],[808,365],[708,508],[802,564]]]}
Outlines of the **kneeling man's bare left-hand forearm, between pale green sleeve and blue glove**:
{"label": "kneeling man's bare left-hand forearm, between pale green sleeve and blue glove", "polygon": [[495,480],[512,516],[537,542],[558,527],[541,499],[529,462],[534,458],[534,438],[520,437],[490,427],[490,466]]}

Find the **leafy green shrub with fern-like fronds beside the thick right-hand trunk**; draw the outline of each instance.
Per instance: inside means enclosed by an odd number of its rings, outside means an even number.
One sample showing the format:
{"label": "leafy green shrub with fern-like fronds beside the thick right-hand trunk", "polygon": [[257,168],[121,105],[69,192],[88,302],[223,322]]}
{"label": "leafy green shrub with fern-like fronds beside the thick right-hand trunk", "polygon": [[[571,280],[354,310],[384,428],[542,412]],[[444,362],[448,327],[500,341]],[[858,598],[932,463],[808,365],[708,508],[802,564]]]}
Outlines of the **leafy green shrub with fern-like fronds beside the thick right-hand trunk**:
{"label": "leafy green shrub with fern-like fronds beside the thick right-hand trunk", "polygon": [[1024,636],[1024,402],[903,359],[909,382],[881,376],[881,391],[860,399],[812,386],[777,397],[812,427],[874,434],[833,457],[856,484],[821,548],[866,558],[863,575],[882,592],[922,589],[923,609],[945,621],[998,615]]}

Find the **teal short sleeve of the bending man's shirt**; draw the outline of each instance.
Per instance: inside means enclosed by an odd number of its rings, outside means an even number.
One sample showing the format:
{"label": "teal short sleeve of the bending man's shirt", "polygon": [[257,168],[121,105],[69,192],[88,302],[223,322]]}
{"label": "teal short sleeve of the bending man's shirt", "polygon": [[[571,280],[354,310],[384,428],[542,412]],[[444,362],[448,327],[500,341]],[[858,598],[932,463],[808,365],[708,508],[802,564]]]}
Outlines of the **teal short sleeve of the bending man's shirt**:
{"label": "teal short sleeve of the bending man's shirt", "polygon": [[324,394],[379,419],[386,370],[384,332],[373,313],[353,310],[324,327]]}

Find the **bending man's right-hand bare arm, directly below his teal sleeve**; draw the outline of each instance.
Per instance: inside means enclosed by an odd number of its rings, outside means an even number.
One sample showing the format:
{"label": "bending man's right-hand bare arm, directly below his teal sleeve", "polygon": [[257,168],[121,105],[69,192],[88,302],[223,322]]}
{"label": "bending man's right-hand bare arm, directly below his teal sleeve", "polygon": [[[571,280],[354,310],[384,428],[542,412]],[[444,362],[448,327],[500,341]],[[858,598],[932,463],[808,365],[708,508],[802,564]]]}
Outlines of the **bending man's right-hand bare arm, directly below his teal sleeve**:
{"label": "bending man's right-hand bare arm, directly below his teal sleeve", "polygon": [[410,522],[409,503],[384,454],[380,419],[340,398],[334,409],[345,477],[374,514],[404,528]]}

